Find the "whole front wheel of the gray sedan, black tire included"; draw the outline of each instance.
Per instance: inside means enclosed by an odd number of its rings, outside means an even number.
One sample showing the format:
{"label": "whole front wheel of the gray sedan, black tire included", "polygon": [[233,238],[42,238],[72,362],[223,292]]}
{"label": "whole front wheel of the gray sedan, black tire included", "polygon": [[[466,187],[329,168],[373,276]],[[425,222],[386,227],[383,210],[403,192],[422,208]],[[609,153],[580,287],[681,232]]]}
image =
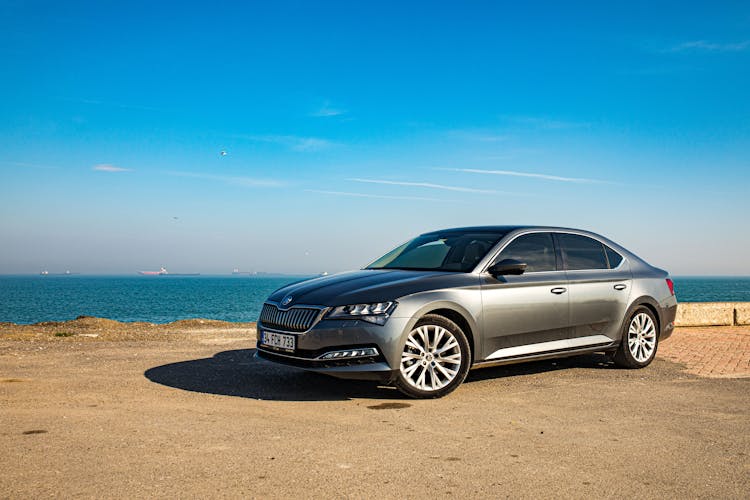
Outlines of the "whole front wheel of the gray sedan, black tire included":
{"label": "whole front wheel of the gray sedan, black tire included", "polygon": [[427,314],[406,336],[394,385],[412,398],[441,398],[461,385],[470,365],[471,348],[461,328]]}

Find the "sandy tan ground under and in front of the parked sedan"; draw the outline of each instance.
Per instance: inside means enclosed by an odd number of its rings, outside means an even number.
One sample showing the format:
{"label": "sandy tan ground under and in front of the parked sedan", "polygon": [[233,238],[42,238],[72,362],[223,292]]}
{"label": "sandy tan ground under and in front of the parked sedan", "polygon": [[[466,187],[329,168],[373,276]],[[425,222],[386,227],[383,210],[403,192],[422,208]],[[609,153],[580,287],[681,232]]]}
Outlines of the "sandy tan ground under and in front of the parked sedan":
{"label": "sandy tan ground under and in front of the parked sedan", "polygon": [[413,401],[255,360],[254,335],[0,325],[0,497],[749,496],[748,378],[592,355]]}

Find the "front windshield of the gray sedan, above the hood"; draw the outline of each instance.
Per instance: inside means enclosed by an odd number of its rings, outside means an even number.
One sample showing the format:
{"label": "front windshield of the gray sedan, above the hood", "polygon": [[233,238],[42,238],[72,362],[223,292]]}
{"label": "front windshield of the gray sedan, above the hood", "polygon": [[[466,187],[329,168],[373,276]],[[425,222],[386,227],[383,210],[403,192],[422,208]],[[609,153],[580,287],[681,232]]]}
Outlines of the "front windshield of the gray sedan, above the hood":
{"label": "front windshield of the gray sedan, above the hood", "polygon": [[391,250],[367,269],[409,269],[417,271],[473,270],[505,233],[429,233],[417,236]]}

